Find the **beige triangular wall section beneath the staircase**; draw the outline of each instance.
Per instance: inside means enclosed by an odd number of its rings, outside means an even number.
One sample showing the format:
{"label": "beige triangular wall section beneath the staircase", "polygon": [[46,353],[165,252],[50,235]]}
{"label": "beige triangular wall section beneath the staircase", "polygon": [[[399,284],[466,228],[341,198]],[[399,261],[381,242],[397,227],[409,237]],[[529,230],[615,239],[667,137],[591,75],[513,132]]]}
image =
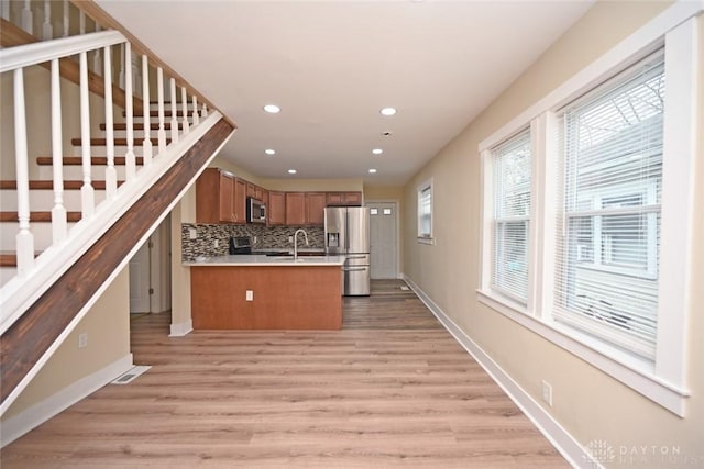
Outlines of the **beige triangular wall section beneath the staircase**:
{"label": "beige triangular wall section beneath the staircase", "polygon": [[[130,356],[130,281],[128,268],[114,279],[78,326],[2,416],[3,424],[32,405]],[[78,335],[88,345],[78,348]],[[131,362],[131,358],[130,358]],[[117,376],[112,377],[117,378]]]}

